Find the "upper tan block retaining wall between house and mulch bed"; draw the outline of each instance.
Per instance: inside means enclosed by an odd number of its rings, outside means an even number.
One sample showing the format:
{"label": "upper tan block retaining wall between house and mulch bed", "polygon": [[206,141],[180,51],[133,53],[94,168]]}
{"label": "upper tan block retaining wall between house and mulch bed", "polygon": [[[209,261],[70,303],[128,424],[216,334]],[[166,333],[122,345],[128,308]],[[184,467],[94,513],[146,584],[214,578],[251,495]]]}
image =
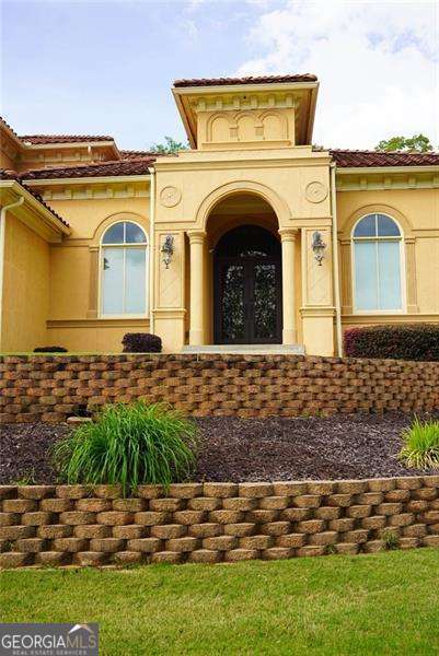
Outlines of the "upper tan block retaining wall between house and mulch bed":
{"label": "upper tan block retaining wall between house and mulch bed", "polygon": [[300,355],[3,355],[0,422],[65,421],[137,398],[194,415],[439,408],[439,362]]}

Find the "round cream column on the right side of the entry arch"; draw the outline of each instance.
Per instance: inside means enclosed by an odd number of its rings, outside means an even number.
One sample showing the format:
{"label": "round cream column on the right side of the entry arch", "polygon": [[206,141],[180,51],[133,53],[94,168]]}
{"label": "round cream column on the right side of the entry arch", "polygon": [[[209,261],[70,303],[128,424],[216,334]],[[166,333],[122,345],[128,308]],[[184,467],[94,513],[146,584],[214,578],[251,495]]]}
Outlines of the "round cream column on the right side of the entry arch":
{"label": "round cream column on the right side of the entry arch", "polygon": [[297,343],[296,326],[296,285],[294,285],[294,259],[297,230],[284,227],[279,230],[282,244],[282,343]]}

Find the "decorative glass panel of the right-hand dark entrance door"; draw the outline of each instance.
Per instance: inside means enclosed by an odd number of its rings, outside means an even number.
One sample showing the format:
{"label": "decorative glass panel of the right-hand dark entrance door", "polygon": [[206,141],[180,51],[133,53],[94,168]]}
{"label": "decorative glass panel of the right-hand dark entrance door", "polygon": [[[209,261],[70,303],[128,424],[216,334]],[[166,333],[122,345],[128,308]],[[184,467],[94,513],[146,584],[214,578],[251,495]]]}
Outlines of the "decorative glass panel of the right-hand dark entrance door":
{"label": "decorative glass panel of the right-hand dark entrance door", "polygon": [[277,337],[276,265],[254,266],[254,337],[273,340]]}

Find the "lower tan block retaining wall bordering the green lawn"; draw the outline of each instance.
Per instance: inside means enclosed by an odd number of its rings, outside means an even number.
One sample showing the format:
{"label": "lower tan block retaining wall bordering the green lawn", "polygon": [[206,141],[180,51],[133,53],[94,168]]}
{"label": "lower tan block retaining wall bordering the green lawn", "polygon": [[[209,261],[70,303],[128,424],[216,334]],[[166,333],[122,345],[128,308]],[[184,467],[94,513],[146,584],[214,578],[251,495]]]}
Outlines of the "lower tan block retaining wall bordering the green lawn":
{"label": "lower tan block retaining wall bordering the green lawn", "polygon": [[439,547],[439,476],[0,487],[0,566],[218,563]]}

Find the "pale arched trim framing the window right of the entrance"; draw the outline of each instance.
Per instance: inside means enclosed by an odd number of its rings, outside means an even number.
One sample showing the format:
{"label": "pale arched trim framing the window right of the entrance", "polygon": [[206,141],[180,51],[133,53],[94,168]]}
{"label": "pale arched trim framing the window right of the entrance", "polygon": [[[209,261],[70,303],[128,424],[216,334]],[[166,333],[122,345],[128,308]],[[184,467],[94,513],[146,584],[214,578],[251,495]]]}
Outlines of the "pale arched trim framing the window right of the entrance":
{"label": "pale arched trim framing the window right of the entrance", "polygon": [[[400,236],[373,236],[373,237],[355,237],[355,230],[360,221],[366,219],[366,216],[370,216],[370,214],[377,215],[382,214],[388,216],[397,225],[400,230]],[[357,308],[357,294],[356,294],[356,262],[355,262],[355,244],[356,242],[372,242],[377,244],[378,242],[396,242],[400,244],[400,286],[401,286],[401,308],[398,309],[358,309]],[[351,260],[351,294],[353,294],[353,314],[354,315],[404,315],[407,314],[407,284],[406,284],[406,268],[405,268],[405,239],[404,239],[404,231],[401,226],[401,223],[392,216],[392,214],[388,214],[386,212],[367,212],[357,219],[354,223],[350,231],[350,260]],[[379,280],[379,270],[377,268],[377,277]]]}

